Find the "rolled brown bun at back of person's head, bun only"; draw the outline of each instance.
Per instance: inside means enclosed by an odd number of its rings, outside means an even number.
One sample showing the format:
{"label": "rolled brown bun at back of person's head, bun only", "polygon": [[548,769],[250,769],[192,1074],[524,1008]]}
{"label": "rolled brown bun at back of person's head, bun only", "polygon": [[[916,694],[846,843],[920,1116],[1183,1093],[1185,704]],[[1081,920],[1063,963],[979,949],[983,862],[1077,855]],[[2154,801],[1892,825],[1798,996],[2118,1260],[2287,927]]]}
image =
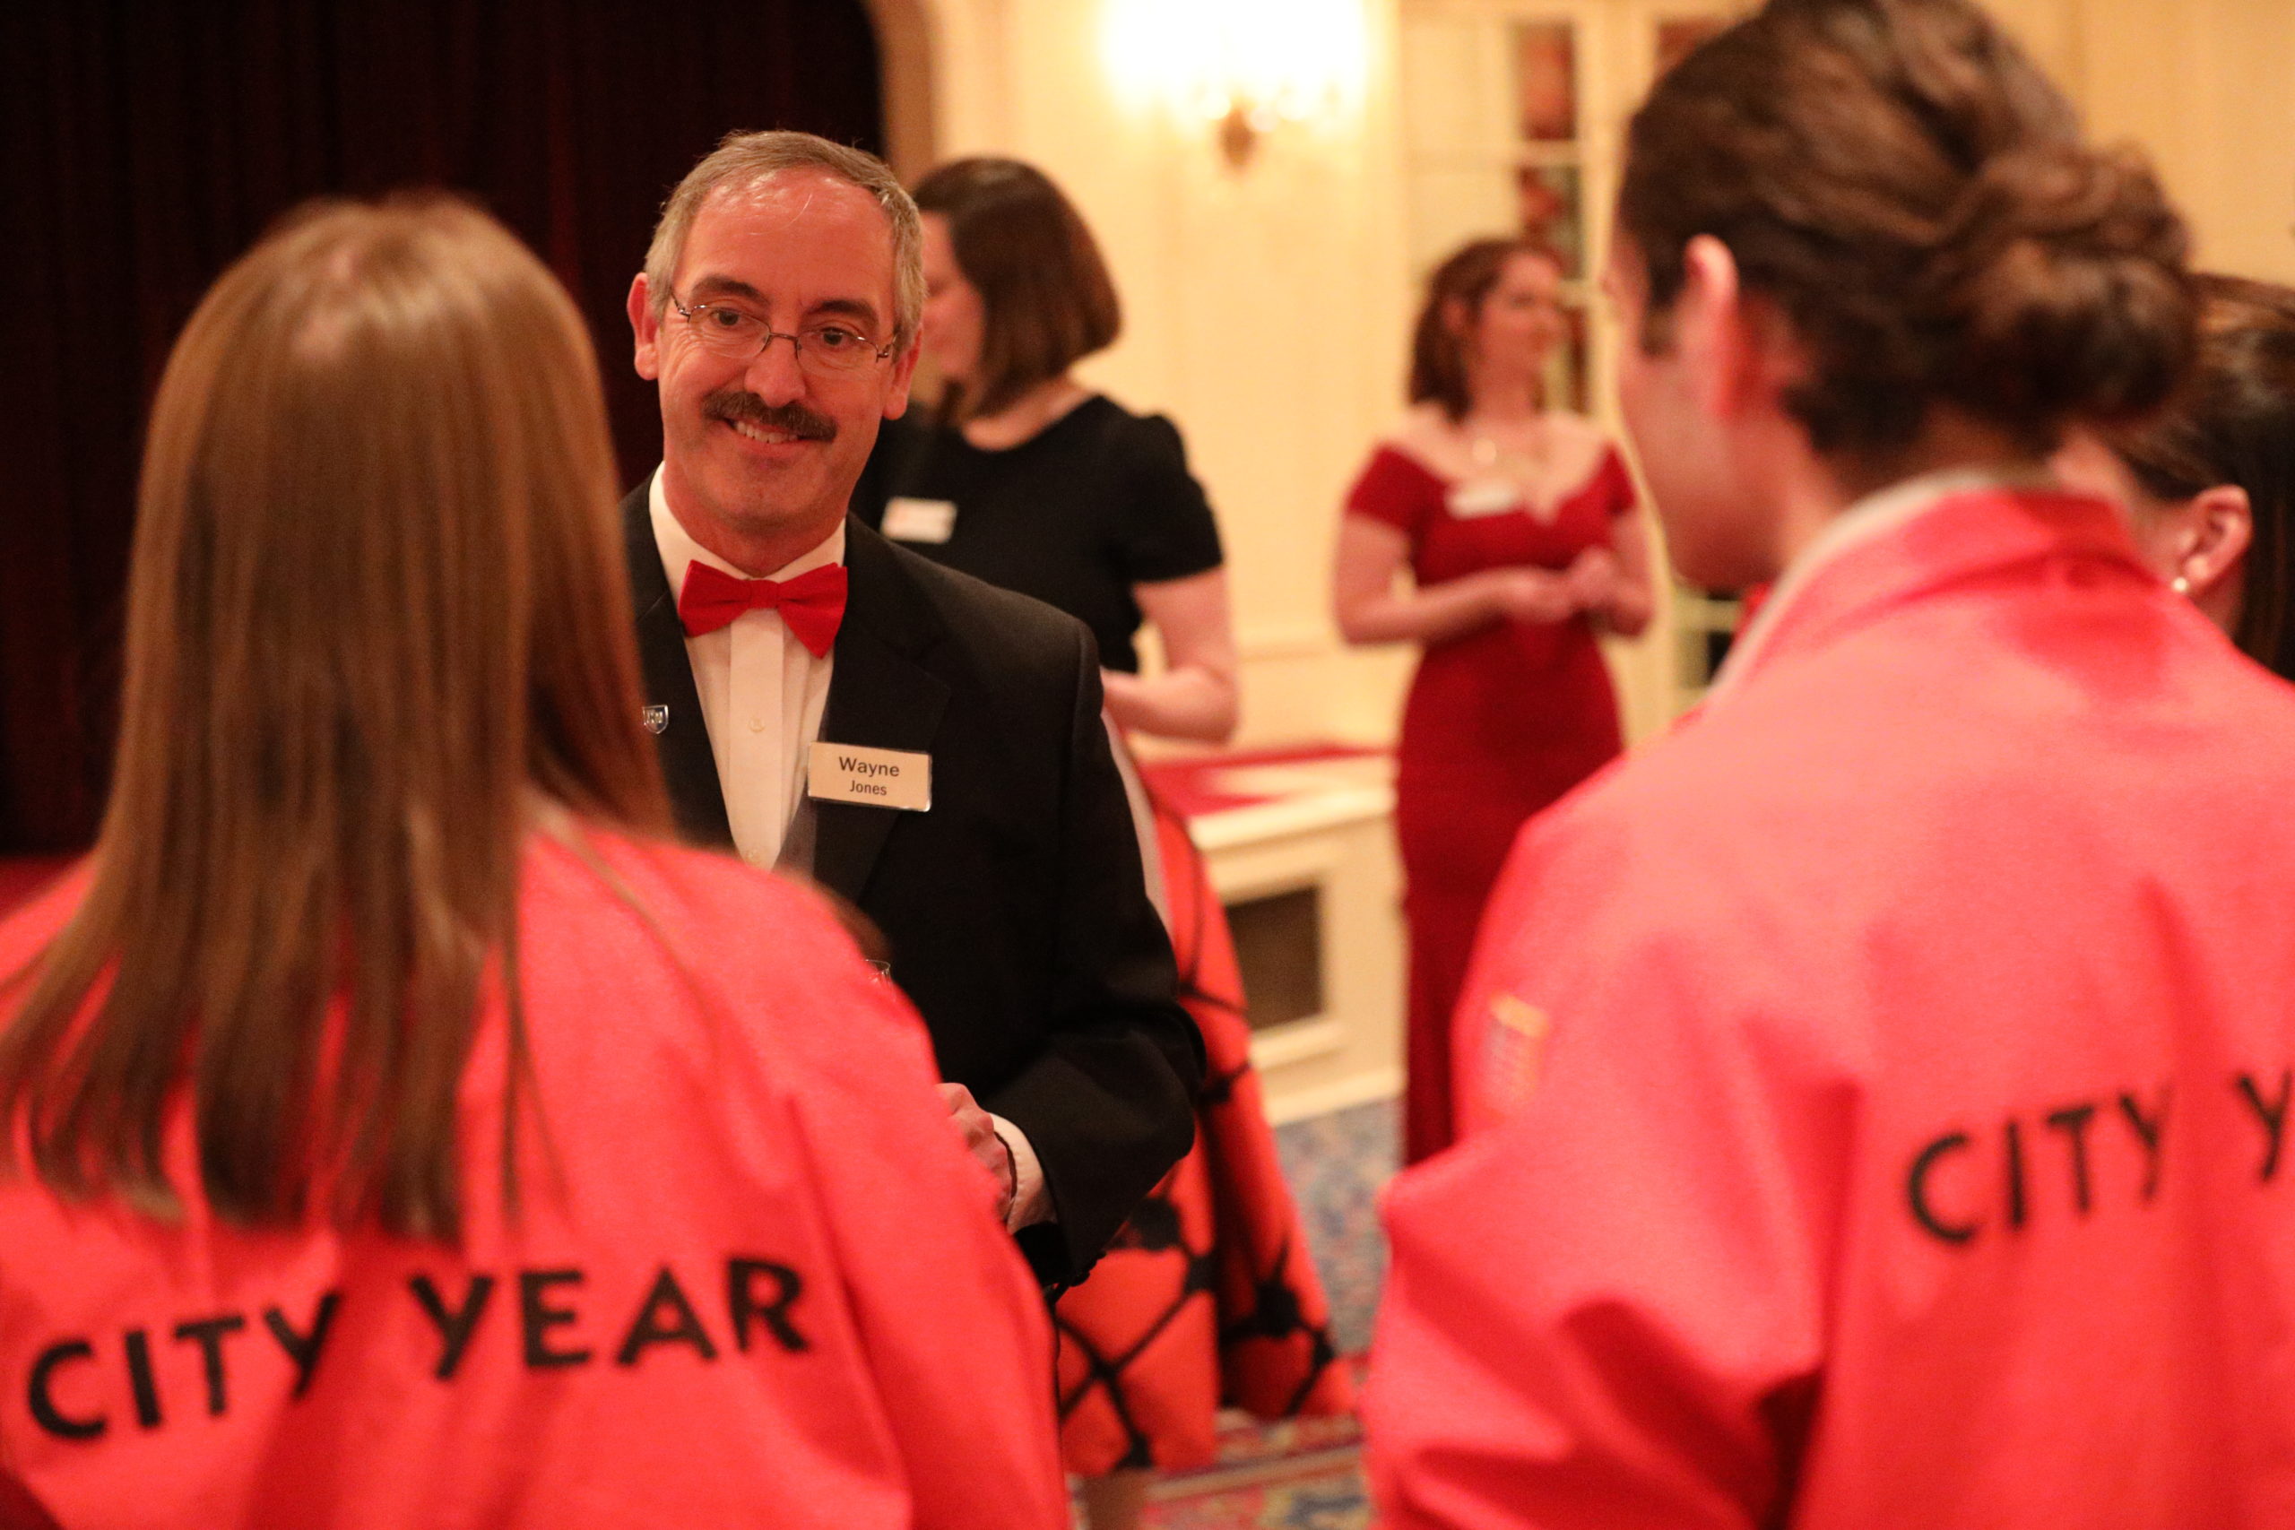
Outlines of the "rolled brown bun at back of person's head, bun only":
{"label": "rolled brown bun at back of person's head, bun only", "polygon": [[2196,344],[2185,245],[2132,151],[2040,140],[1985,158],[1930,266],[1958,328],[1946,395],[2036,434],[2160,406]]}

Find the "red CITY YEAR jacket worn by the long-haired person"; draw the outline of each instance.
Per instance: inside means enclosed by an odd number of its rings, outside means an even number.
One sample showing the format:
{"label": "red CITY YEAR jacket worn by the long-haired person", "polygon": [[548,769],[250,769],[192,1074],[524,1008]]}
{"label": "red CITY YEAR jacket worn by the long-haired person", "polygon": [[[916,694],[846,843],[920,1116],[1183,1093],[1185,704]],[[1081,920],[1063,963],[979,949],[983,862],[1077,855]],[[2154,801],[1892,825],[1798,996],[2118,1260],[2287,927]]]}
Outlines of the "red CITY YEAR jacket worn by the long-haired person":
{"label": "red CITY YEAR jacket worn by the long-haired person", "polygon": [[[0,927],[0,970],[80,890]],[[73,1530],[1065,1528],[1042,1298],[826,911],[537,837],[521,982],[526,1207],[493,1009],[459,1252],[220,1225],[188,1113],[177,1227],[0,1179],[0,1466]]]}

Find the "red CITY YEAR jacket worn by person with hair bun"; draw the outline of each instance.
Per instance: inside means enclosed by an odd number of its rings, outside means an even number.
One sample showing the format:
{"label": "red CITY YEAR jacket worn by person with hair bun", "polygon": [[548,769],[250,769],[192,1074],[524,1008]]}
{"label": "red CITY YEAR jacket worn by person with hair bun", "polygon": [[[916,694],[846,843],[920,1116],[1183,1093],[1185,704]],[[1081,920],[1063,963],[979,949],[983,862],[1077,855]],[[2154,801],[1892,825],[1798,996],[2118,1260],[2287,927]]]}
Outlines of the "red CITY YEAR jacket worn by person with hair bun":
{"label": "red CITY YEAR jacket worn by person with hair bun", "polygon": [[2295,693],[2107,505],[1838,532],[1515,846],[1391,1530],[2295,1525]]}

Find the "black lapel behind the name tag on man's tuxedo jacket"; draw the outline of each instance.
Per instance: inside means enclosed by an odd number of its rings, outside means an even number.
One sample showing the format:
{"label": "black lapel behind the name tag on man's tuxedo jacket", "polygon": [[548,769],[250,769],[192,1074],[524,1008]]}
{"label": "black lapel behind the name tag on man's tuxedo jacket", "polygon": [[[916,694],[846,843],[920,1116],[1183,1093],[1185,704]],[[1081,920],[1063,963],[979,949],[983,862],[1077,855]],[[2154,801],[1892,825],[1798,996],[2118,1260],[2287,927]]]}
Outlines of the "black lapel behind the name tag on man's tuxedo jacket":
{"label": "black lapel behind the name tag on man's tuxedo jacket", "polygon": [[[822,743],[929,755],[948,709],[948,684],[920,663],[939,640],[923,596],[907,587],[890,544],[851,518],[845,521],[845,624],[822,709]],[[815,803],[815,810],[812,879],[858,904],[900,810],[863,803]]]}

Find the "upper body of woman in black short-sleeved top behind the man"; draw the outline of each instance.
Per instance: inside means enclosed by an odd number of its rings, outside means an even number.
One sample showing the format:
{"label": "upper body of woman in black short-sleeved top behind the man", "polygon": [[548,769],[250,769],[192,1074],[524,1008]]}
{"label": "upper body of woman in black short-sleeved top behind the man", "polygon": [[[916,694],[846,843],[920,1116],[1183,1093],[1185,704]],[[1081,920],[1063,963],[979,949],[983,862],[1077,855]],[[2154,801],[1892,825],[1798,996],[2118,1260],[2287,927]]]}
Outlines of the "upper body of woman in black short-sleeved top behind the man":
{"label": "upper body of woman in black short-sleeved top behind the man", "polygon": [[[1115,287],[1083,218],[1019,161],[962,158],[916,188],[936,411],[890,420],[854,509],[893,541],[1092,629],[1118,727],[1223,743],[1235,631],[1219,525],[1180,431],[1069,367],[1113,344]],[[1148,622],[1164,670],[1138,672]]]}

